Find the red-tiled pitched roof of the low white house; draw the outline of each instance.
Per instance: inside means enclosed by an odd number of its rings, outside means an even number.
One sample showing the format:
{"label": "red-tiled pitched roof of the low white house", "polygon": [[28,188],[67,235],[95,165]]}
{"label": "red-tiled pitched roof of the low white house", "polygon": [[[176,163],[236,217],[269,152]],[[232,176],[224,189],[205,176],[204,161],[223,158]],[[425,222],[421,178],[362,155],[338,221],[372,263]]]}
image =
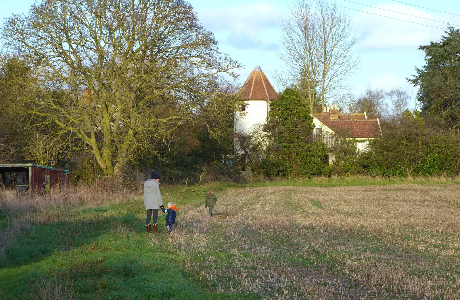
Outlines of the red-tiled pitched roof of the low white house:
{"label": "red-tiled pitched roof of the low white house", "polygon": [[364,114],[339,114],[339,120],[331,120],[329,113],[312,115],[334,132],[345,130],[348,138],[378,138],[381,136],[377,119],[366,120]]}

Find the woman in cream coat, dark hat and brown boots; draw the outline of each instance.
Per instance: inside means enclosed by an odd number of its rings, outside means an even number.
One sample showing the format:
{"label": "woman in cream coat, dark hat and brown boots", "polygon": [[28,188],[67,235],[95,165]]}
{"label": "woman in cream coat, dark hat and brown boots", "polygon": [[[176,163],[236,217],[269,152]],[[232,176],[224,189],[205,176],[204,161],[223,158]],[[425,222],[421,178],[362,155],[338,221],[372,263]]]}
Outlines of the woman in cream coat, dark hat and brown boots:
{"label": "woman in cream coat, dark hat and brown boots", "polygon": [[[160,174],[152,172],[150,179],[144,182],[144,205],[147,211],[147,219],[145,227],[147,232],[158,233],[158,209],[164,208],[163,199],[160,192]],[[153,222],[150,223],[150,218],[153,215]],[[153,230],[152,230],[153,229]]]}

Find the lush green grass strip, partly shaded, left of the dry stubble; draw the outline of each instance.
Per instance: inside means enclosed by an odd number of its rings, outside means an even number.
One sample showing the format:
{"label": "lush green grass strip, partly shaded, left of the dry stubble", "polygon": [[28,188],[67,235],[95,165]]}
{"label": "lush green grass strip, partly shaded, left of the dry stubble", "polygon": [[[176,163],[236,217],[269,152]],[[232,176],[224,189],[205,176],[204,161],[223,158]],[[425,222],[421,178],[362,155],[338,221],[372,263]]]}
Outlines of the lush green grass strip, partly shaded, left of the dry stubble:
{"label": "lush green grass strip, partly shaded, left of the dry stubble", "polygon": [[[71,290],[73,299],[259,299],[202,288],[178,264],[186,257],[165,252],[164,234],[144,231],[141,200],[69,209],[71,219],[32,225],[6,247],[0,299],[29,299],[32,292],[40,298],[44,285],[67,297]],[[164,220],[160,215],[159,228]],[[65,283],[72,287],[67,292]]]}

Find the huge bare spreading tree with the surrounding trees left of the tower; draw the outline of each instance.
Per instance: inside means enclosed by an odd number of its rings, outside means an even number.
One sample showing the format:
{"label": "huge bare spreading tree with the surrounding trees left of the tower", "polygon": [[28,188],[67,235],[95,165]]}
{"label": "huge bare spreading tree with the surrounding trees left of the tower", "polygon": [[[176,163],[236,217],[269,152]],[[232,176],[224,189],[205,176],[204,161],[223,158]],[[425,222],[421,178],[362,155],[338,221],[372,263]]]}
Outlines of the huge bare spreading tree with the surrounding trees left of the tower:
{"label": "huge bare spreading tree with the surrounding trees left of the tower", "polygon": [[230,153],[240,64],[187,2],[47,0],[1,38],[2,162],[185,179]]}

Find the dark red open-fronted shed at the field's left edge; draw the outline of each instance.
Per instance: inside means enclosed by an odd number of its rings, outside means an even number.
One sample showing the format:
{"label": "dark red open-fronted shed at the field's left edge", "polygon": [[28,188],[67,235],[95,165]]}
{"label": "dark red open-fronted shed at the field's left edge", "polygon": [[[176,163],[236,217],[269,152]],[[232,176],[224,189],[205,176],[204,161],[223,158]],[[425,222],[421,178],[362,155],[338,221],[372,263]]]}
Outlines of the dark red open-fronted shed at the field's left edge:
{"label": "dark red open-fronted shed at the field's left edge", "polygon": [[3,163],[0,164],[0,189],[43,193],[47,187],[68,184],[69,175],[67,170],[32,163]]}

